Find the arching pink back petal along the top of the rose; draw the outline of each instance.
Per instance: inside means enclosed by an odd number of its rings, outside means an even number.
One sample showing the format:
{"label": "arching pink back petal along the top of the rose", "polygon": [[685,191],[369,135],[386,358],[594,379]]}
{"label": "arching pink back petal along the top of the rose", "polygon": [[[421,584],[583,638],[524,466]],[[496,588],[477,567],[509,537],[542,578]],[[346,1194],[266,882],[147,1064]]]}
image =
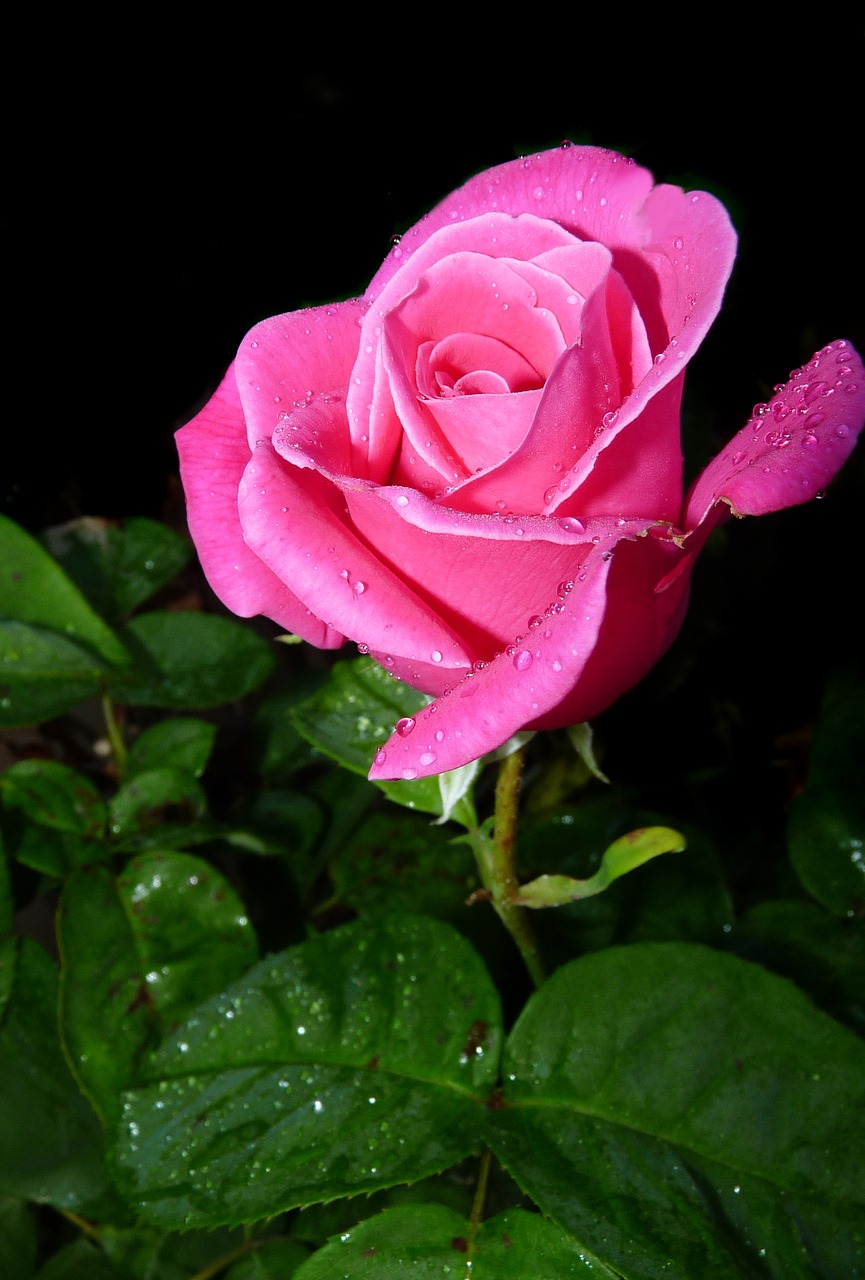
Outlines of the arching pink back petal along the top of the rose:
{"label": "arching pink back petal along the top of the rose", "polygon": [[[647,324],[654,353],[664,351],[686,323],[695,346],[705,337],[736,253],[727,210],[705,192],[653,188],[650,173],[599,147],[558,147],[472,178],[402,237],[367,297],[383,296],[390,279],[412,255],[424,252],[440,228],[489,211],[518,215],[527,210],[613,250],[615,269]],[[534,257],[535,252],[514,256]]]}

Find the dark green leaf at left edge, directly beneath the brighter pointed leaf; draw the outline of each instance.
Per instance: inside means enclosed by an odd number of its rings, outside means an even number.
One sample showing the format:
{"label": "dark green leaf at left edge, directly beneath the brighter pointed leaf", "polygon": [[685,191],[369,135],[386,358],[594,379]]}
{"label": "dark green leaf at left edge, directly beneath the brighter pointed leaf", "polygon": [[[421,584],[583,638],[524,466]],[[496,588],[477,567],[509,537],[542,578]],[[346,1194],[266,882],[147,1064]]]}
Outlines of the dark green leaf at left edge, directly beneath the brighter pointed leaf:
{"label": "dark green leaf at left edge, directly beneath the brighter pointed leaf", "polygon": [[26,622],[0,620],[0,726],[40,724],[99,692],[107,669],[88,649]]}

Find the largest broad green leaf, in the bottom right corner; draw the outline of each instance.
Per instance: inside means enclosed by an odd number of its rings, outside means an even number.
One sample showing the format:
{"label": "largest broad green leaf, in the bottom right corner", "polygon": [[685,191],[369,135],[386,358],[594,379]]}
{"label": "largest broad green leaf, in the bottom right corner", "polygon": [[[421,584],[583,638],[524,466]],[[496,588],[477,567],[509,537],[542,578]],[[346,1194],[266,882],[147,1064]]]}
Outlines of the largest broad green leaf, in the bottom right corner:
{"label": "largest broad green leaf, in the bottom right corner", "polygon": [[503,1075],[490,1146],[623,1275],[861,1274],[865,1046],[791,983],[685,943],[585,956]]}

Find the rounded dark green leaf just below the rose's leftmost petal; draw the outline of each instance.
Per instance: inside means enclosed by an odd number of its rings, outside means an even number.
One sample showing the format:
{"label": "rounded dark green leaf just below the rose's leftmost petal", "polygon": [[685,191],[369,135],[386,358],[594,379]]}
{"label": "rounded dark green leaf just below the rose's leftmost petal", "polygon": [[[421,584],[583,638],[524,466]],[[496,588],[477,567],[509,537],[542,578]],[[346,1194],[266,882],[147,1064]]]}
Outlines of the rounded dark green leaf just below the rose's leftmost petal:
{"label": "rounded dark green leaf just below the rose's leftmost petal", "polygon": [[270,645],[233,618],[141,613],[123,635],[134,664],[109,694],[138,707],[218,707],[257,689],[274,667]]}

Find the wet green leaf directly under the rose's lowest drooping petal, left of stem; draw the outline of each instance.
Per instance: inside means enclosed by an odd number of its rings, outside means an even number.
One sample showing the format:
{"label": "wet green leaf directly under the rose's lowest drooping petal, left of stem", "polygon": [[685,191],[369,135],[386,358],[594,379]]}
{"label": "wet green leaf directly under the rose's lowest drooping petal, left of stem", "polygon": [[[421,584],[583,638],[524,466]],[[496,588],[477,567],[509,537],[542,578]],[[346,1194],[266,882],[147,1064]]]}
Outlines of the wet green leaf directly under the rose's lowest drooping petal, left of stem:
{"label": "wet green leaf directly under the rose's lowest drooping petal, left of stem", "polygon": [[[292,709],[298,731],[320,751],[363,777],[372,756],[381,748],[398,719],[413,717],[429,703],[402,681],[393,680],[371,658],[338,662],[328,682],[311,698]],[[468,795],[477,773],[477,762],[450,774],[413,781],[376,782],[389,800],[453,817],[467,824],[473,819]]]}

